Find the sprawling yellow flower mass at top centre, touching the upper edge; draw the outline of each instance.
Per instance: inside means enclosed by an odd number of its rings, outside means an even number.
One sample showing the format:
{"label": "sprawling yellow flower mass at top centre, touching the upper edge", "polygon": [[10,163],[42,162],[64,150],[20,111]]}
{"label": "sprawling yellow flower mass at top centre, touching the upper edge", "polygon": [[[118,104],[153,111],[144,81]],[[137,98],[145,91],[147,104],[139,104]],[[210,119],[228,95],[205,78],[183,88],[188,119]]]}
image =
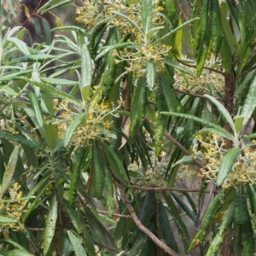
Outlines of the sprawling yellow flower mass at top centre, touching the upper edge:
{"label": "sprawling yellow flower mass at top centre, touching the upper edge", "polygon": [[[126,4],[125,2],[120,0],[85,0],[84,7],[77,9],[77,14],[79,15],[77,20],[84,23],[86,29],[90,31],[100,20],[113,17],[112,19],[108,19],[108,27],[117,27],[124,37],[127,34],[131,34],[128,42],[131,41],[143,45],[143,47],[137,47],[136,49],[125,48],[119,51],[114,50],[113,55],[116,56],[116,64],[125,61],[125,73],[135,72],[137,78],[139,78],[146,73],[146,63],[151,60],[154,61],[156,73],[160,72],[164,68],[164,58],[166,55],[169,55],[171,46],[161,43],[152,44],[151,39],[143,36],[136,27],[131,25],[131,22],[119,15],[114,15],[113,11],[119,12],[137,24],[140,29],[143,29],[141,4]],[[163,8],[160,6],[160,1],[152,1],[152,4],[154,7],[152,27],[161,26],[165,22],[160,15],[160,11]],[[157,32],[155,31],[154,34]]]}

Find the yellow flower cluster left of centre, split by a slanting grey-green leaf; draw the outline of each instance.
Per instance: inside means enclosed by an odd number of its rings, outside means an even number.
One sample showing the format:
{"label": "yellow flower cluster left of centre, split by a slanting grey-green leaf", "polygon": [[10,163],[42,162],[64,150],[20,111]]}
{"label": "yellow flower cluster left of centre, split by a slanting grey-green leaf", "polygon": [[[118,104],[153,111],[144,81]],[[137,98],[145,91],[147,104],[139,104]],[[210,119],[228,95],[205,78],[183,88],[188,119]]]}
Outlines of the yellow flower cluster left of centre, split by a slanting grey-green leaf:
{"label": "yellow flower cluster left of centre, split by a slanting grey-green leaf", "polygon": [[[63,139],[67,127],[82,111],[74,108],[67,100],[62,100],[60,103],[54,100],[54,103],[55,110],[61,112],[61,118],[56,122],[58,124],[58,136]],[[117,108],[113,108],[111,104],[105,102],[98,103],[94,108],[90,108],[84,122],[73,132],[71,145],[78,149],[90,144],[96,138],[109,141],[110,137],[114,137],[110,130],[113,126],[113,115],[119,117],[118,114],[113,113]]]}

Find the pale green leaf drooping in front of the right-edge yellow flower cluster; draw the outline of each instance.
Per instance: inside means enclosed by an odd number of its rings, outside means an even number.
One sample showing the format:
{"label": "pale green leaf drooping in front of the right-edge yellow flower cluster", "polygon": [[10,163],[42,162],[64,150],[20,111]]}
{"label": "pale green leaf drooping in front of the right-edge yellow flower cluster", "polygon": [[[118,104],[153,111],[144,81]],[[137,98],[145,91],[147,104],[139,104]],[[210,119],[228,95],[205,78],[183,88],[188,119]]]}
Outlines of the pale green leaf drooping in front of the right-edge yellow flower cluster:
{"label": "pale green leaf drooping in front of the right-edge yellow flower cluster", "polygon": [[224,158],[220,161],[220,166],[218,169],[218,177],[216,180],[216,185],[221,186],[224,179],[228,177],[232,170],[232,166],[236,162],[237,156],[240,154],[240,148],[230,148],[228,152],[224,155]]}

